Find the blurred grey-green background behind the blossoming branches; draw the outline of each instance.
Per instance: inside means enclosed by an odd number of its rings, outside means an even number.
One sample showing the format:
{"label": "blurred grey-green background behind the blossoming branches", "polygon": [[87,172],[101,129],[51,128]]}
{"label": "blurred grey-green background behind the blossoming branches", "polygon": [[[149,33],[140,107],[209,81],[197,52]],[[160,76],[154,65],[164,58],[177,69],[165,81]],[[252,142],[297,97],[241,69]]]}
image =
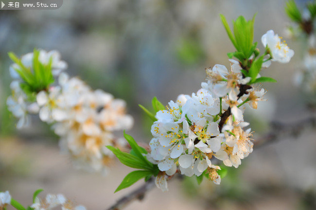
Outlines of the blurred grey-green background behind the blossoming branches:
{"label": "blurred grey-green background behind the blossoming branches", "polygon": [[[263,50],[261,36],[273,29],[295,51],[288,64],[273,63],[263,76],[268,101],[258,110],[246,110],[255,137],[269,131],[269,122],[296,122],[309,117],[306,98],[293,85],[301,66],[302,41],[286,37],[289,18],[285,0],[64,0],[57,10],[0,11],[0,191],[31,205],[36,189],[63,193],[88,209],[106,209],[123,194],[113,193],[131,170],[113,162],[110,174],[90,174],[72,167],[59,153],[58,137],[49,126],[32,119],[32,126],[17,130],[17,120],[6,108],[10,94],[7,53],[18,56],[34,48],[58,50],[71,76],[79,76],[92,88],[103,89],[127,102],[135,125],[128,131],[136,140],[149,142],[150,121],[138,104],[149,106],[157,96],[163,103],[179,94],[190,94],[206,78],[205,68],[229,67],[234,48],[219,14],[229,23],[238,16],[257,13],[254,41]],[[298,1],[303,7],[306,1]],[[122,135],[122,134],[119,134]],[[255,138],[254,138],[255,139]],[[126,209],[202,210],[312,210],[316,209],[315,130],[298,137],[284,137],[254,152],[238,168],[231,168],[220,186],[204,180],[173,180],[169,192],[154,189],[142,202]]]}

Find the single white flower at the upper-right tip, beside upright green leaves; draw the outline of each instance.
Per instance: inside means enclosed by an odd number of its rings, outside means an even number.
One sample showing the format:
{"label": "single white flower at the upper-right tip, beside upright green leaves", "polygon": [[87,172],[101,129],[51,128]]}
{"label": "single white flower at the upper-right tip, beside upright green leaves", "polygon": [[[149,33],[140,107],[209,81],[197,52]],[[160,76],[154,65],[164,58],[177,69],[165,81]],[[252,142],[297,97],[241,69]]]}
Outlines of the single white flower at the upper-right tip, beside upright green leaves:
{"label": "single white flower at the upper-right tip, beside upright green leaves", "polygon": [[288,63],[293,57],[294,51],[287,46],[285,41],[281,41],[281,38],[279,35],[275,35],[273,30],[269,30],[261,37],[261,41],[264,47],[270,49],[272,61]]}

